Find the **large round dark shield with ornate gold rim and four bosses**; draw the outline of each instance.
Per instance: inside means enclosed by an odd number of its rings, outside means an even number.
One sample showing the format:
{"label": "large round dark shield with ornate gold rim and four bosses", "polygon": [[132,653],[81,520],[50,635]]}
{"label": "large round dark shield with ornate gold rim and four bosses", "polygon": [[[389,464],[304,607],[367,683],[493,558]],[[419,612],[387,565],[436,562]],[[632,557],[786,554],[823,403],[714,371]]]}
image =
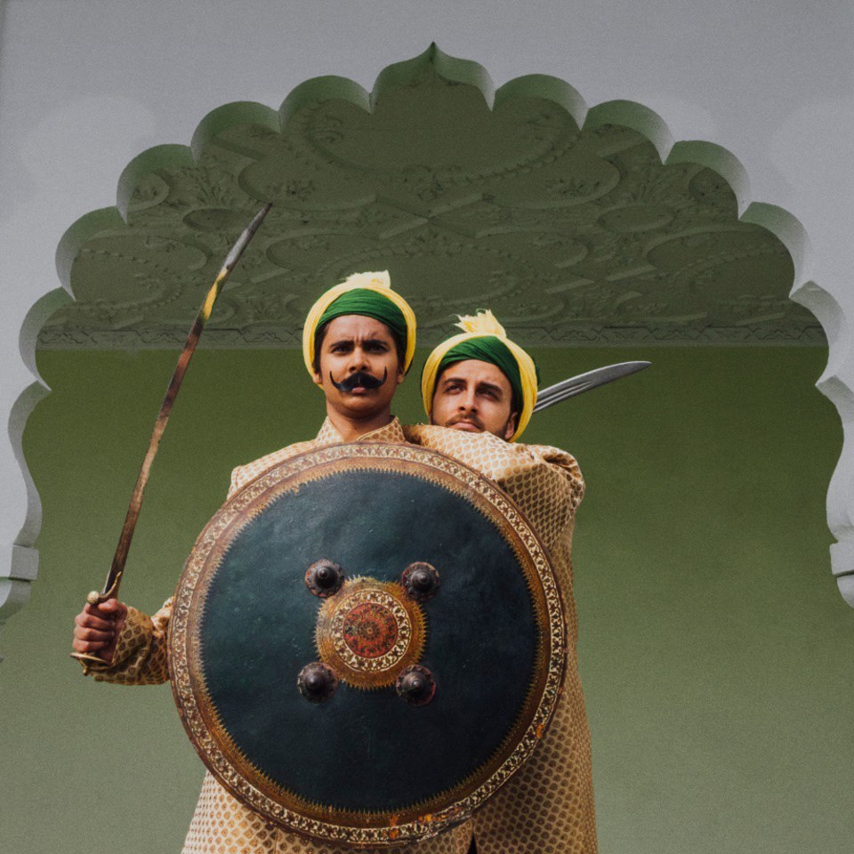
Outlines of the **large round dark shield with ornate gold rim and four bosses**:
{"label": "large round dark shield with ornate gold rim and four bosses", "polygon": [[495,484],[412,445],[321,447],[197,539],[173,691],[205,765],[286,830],[383,847],[471,815],[551,717],[552,568]]}

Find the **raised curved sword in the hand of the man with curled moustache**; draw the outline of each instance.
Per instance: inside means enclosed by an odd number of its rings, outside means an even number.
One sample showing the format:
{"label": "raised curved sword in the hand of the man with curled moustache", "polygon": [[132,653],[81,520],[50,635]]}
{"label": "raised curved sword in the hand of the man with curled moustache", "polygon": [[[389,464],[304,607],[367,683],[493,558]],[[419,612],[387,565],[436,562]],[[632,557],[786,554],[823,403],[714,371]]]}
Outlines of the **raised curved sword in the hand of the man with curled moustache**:
{"label": "raised curved sword in the hand of the man with curled moustache", "polygon": [[[122,576],[125,573],[127,552],[131,548],[133,530],[136,528],[136,520],[140,515],[142,493],[145,490],[145,485],[149,481],[151,463],[154,462],[154,457],[157,455],[157,447],[160,445],[160,439],[163,436],[163,431],[166,429],[166,423],[169,421],[169,415],[172,412],[173,403],[178,395],[178,390],[181,388],[184,375],[187,373],[189,360],[192,359],[193,353],[196,351],[198,339],[201,337],[202,332],[205,329],[205,323],[207,323],[208,318],[211,316],[211,312],[214,310],[214,302],[216,302],[217,297],[219,297],[222,292],[222,286],[225,284],[226,279],[229,278],[231,270],[234,270],[237,266],[240,256],[243,254],[246,246],[249,246],[249,242],[252,238],[254,238],[255,232],[264,221],[264,217],[270,211],[270,207],[272,207],[272,204],[268,203],[267,205],[264,205],[257,214],[255,214],[253,221],[246,226],[246,229],[243,230],[238,238],[237,243],[231,247],[230,253],[226,255],[225,261],[222,262],[222,267],[214,279],[214,284],[210,286],[210,289],[205,295],[205,302],[202,302],[202,306],[198,310],[198,314],[196,315],[196,319],[193,321],[193,325],[189,327],[187,342],[184,344],[184,349],[181,350],[181,356],[178,357],[178,364],[175,366],[172,379],[169,381],[169,385],[166,388],[165,398],[163,399],[163,403],[160,405],[160,411],[157,413],[157,420],[154,423],[154,430],[151,432],[151,439],[149,439],[149,449],[146,451],[145,459],[142,461],[140,475],[136,479],[136,486],[133,487],[131,503],[127,508],[125,524],[122,526],[122,533],[118,537],[116,554],[113,555],[113,562],[109,568],[107,580],[104,582],[101,592],[93,590],[86,596],[86,601],[90,605],[100,605],[101,602],[112,599],[118,594],[118,588],[122,582]],[[93,656],[85,652],[72,652],[71,657],[77,658],[77,661],[83,665],[84,673],[89,672],[90,665],[106,664],[103,658]]]}

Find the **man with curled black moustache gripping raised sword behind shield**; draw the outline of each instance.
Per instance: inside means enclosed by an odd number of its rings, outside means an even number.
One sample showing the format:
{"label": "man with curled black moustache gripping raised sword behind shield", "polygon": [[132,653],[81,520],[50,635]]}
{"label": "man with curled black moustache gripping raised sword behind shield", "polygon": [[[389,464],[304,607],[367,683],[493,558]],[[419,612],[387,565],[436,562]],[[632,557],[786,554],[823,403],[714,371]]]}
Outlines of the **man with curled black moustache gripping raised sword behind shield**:
{"label": "man with curled black moustache gripping raised sword behind shield", "polygon": [[[315,439],[235,469],[229,495],[262,471],[316,447],[356,440],[406,440],[398,419],[391,416],[391,399],[415,353],[415,315],[403,297],[391,290],[387,272],[350,276],[323,294],[306,318],[302,344],[305,366],[326,396],[326,420]],[[74,649],[109,661],[93,668],[97,681],[164,682],[171,616],[171,599],[151,617],[117,600],[87,605],[75,621]],[[467,847],[468,834],[451,831],[404,850],[464,854]],[[342,854],[344,850],[268,824],[206,772],[183,854]]]}

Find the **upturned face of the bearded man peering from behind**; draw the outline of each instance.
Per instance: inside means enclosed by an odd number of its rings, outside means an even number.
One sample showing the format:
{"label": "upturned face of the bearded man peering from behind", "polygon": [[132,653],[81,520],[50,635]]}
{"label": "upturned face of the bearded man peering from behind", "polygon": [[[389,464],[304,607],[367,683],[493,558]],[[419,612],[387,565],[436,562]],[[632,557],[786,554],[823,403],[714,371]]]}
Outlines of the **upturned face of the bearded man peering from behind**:
{"label": "upturned face of the bearded man peering from behind", "polygon": [[439,375],[430,423],[510,439],[518,417],[512,399],[510,381],[501,368],[479,359],[455,362]]}

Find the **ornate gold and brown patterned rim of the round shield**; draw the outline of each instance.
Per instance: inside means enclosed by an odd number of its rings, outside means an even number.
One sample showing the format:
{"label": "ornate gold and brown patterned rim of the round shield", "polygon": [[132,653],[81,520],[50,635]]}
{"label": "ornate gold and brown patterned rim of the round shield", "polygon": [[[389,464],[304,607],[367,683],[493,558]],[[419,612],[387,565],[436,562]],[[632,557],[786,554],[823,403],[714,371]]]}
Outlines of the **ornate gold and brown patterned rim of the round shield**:
{"label": "ornate gold and brown patterned rim of the round shield", "polygon": [[[335,810],[277,786],[246,759],[222,726],[205,688],[199,628],[205,592],[230,542],[278,495],[353,469],[404,471],[463,495],[512,544],[526,574],[539,629],[537,679],[503,744],[453,789],[395,814]],[[435,836],[471,816],[528,759],[552,717],[566,660],[560,592],[544,546],[512,499],[463,463],[423,447],[379,442],[331,445],[294,455],[263,472],[214,514],[189,554],[175,592],[170,631],[173,695],[181,721],[208,769],[239,801],[294,833],[359,848],[388,847]]]}

